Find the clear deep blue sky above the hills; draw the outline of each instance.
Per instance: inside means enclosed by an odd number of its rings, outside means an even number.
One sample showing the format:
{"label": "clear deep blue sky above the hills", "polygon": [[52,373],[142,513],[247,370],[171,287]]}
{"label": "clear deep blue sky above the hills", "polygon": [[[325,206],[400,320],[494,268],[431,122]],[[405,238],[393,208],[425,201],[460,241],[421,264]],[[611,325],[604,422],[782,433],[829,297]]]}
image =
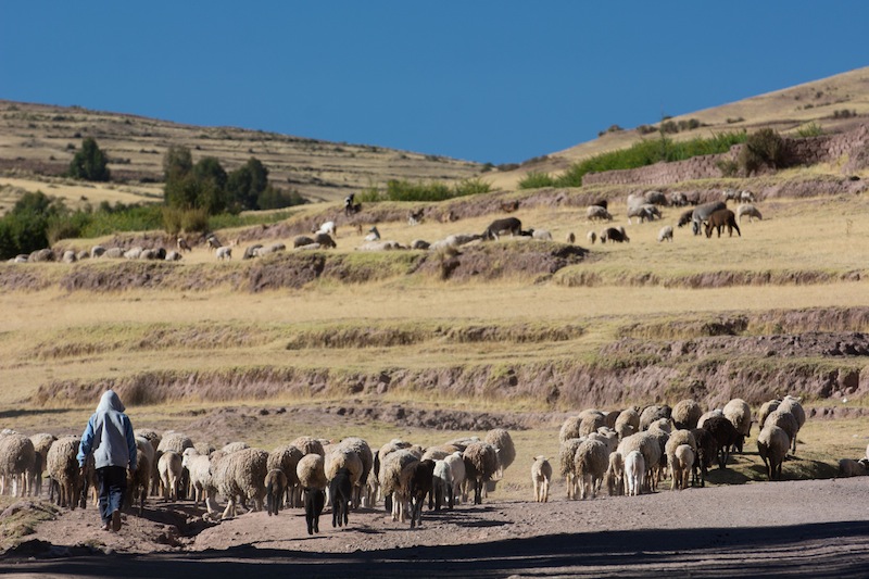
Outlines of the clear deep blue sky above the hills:
{"label": "clear deep blue sky above the hills", "polygon": [[0,0],[0,99],[495,164],[869,64],[869,2]]}

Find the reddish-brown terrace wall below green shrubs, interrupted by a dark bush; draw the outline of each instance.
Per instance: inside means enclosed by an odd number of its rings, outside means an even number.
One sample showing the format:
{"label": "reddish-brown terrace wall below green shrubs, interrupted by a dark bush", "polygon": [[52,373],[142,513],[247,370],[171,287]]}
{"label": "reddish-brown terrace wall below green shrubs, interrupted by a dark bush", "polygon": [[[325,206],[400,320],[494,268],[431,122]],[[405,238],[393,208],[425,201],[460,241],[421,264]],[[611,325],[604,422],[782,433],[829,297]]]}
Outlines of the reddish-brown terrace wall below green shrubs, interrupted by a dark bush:
{"label": "reddish-brown terrace wall below green shrubs, interrupted by a dark bush", "polygon": [[[703,155],[677,161],[656,163],[647,167],[589,173],[582,178],[583,185],[651,185],[663,186],[694,179],[716,179],[723,177],[718,168],[720,161],[734,161],[741,144],[727,153]],[[869,164],[869,125],[841,135],[784,139],[784,158],[789,166],[830,163],[848,156],[846,171],[856,171]]]}

